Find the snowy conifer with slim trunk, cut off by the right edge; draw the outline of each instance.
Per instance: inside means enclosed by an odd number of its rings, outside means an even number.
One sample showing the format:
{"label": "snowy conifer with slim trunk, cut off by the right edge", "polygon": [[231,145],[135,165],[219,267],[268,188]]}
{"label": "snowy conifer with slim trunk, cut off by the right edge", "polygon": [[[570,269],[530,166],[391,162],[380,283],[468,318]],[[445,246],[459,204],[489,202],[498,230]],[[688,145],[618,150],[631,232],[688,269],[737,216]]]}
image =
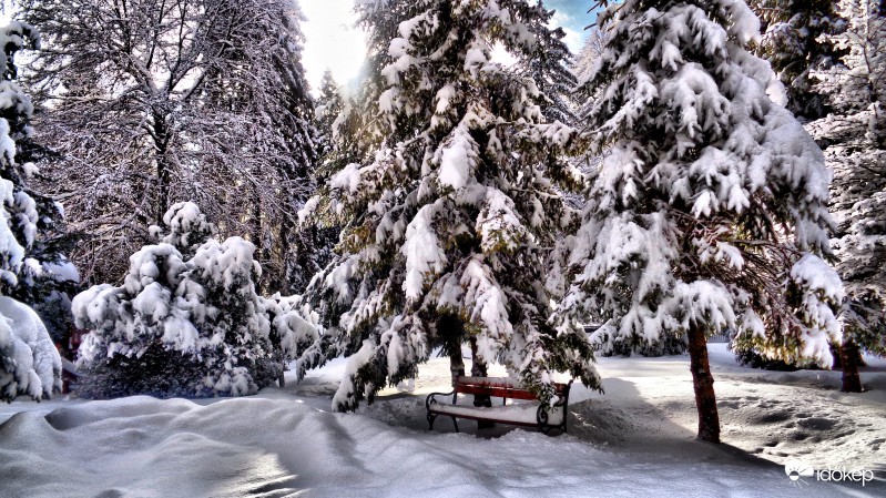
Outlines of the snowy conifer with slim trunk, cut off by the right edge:
{"label": "snowy conifer with slim trunk, cut off by the right edge", "polygon": [[843,390],[860,392],[858,350],[886,355],[886,4],[839,2],[845,32],[829,41],[846,51],[819,73],[833,113],[808,124],[834,169],[832,211],[843,309]]}

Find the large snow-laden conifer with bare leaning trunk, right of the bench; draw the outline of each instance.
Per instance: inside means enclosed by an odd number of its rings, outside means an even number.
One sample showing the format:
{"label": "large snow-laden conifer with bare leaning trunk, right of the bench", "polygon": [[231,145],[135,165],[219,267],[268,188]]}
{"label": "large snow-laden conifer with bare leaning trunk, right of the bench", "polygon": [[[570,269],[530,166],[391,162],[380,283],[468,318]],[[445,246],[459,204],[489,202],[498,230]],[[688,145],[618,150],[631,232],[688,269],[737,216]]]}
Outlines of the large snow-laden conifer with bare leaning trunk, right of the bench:
{"label": "large snow-laden conifer with bare leaning trunk, right of the bench", "polygon": [[[607,2],[608,3],[608,2]],[[782,85],[747,51],[744,0],[625,0],[584,87],[587,138],[609,148],[568,238],[574,280],[557,318],[604,322],[602,343],[685,335],[699,437],[720,440],[706,336],[831,365],[842,286],[829,254],[829,175]],[[783,95],[783,94],[782,94]]]}

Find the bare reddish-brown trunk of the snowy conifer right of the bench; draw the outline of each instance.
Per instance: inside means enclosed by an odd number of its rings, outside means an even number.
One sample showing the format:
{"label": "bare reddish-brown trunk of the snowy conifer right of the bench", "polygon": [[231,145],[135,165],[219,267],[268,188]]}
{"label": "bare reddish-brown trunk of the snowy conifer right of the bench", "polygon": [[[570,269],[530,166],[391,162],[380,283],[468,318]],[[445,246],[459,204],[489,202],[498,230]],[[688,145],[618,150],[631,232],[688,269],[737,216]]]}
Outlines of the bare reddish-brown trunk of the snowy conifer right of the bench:
{"label": "bare reddish-brown trunk of the snowy conifer right of the bench", "polygon": [[704,331],[695,324],[689,328],[689,356],[695,408],[699,410],[699,439],[720,443],[720,415],[716,411],[714,377],[707,362],[707,341]]}

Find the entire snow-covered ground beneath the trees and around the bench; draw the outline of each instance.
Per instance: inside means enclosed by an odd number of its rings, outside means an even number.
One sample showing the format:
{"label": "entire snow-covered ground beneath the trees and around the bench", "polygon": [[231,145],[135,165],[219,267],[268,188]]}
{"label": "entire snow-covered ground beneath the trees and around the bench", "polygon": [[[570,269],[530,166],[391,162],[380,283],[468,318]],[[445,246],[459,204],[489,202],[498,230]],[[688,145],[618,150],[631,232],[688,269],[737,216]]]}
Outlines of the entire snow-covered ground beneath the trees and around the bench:
{"label": "entire snow-covered ground beneath the trees and around the bench", "polygon": [[[498,427],[427,431],[427,393],[383,392],[358,414],[328,411],[344,362],[302,384],[224,400],[54,399],[0,407],[0,497],[242,496],[886,496],[886,482],[794,482],[784,463],[886,476],[886,363],[870,392],[837,372],[772,373],[710,347],[724,445],[694,440],[688,357],[601,358],[605,395],[573,387],[569,434]],[[490,375],[501,374],[493,370]]]}

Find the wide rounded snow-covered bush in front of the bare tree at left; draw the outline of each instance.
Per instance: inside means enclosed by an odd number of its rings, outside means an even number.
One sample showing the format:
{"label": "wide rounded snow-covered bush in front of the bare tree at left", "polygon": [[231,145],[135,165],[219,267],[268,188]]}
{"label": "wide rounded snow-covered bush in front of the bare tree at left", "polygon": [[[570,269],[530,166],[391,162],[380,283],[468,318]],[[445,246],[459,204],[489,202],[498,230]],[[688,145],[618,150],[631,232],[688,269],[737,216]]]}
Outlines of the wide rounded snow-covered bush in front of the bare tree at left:
{"label": "wide rounded snow-covered bush in front of the bare tree at left", "polygon": [[[279,304],[256,294],[261,267],[253,244],[240,237],[201,241],[211,233],[202,220],[190,203],[164,216],[167,240],[185,248],[202,242],[192,258],[184,261],[167,243],[147,245],[130,257],[122,286],[98,285],[74,298],[77,324],[90,331],[80,347],[84,395],[253,394],[312,343],[296,336],[316,337],[316,329],[292,316],[297,311],[277,311]],[[277,341],[271,328],[275,313],[282,316]]]}

